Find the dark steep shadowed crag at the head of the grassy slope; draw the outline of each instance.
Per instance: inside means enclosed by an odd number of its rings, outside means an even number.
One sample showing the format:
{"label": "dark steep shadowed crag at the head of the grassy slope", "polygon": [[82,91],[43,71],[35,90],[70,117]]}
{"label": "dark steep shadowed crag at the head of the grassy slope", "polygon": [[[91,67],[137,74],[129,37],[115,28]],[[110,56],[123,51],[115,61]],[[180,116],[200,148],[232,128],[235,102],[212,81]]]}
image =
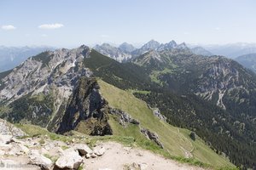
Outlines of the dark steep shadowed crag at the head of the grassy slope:
{"label": "dark steep shadowed crag at the head of the grassy slope", "polygon": [[90,135],[112,134],[108,124],[108,103],[98,91],[94,78],[82,77],[69,99],[57,133],[77,130]]}

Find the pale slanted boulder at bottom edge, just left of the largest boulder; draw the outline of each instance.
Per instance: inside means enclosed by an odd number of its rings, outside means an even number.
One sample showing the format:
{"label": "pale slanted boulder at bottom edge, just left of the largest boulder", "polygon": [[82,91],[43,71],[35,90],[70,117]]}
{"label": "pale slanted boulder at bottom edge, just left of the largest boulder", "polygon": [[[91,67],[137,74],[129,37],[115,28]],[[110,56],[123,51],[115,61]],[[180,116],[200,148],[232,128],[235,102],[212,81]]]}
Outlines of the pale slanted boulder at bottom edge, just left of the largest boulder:
{"label": "pale slanted boulder at bottom edge, just left of the largest boulder", "polygon": [[42,156],[38,150],[31,150],[29,159],[29,164],[37,165],[38,167],[41,167],[41,169],[49,170],[52,166],[52,161],[49,158]]}

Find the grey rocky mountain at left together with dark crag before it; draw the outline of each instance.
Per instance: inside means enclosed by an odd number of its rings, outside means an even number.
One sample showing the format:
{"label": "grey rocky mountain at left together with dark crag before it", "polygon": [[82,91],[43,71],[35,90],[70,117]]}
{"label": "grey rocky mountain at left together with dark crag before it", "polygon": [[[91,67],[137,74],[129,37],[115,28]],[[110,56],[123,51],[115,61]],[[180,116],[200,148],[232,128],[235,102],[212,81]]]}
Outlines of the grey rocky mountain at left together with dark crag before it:
{"label": "grey rocky mountain at left together with dark crag before it", "polygon": [[[88,128],[95,130],[95,134],[104,131],[102,127],[108,125],[108,117],[99,111],[104,101],[97,92],[96,80],[90,79],[92,72],[84,67],[84,58],[90,57],[90,51],[84,45],[48,51],[10,71],[1,79],[0,101],[4,105],[0,108],[1,117],[10,122],[37,124],[59,133],[79,127],[82,122],[84,126],[85,120],[92,124],[93,120],[100,120],[95,128]],[[67,117],[74,122],[68,123]],[[110,133],[109,127],[106,128]]]}

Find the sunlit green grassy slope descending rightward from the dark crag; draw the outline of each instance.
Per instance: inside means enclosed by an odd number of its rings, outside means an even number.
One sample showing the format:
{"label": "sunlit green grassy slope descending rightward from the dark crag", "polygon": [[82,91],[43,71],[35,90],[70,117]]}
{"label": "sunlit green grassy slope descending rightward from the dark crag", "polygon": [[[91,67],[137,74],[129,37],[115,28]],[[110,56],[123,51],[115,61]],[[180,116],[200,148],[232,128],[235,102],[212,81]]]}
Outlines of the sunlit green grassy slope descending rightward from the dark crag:
{"label": "sunlit green grassy slope descending rightward from the dark crag", "polygon": [[[119,88],[115,88],[112,85],[99,80],[98,83],[101,86],[101,93],[108,103],[113,108],[119,108],[128,112],[133,118],[137,119],[142,127],[146,127],[151,131],[157,133],[160,137],[160,141],[164,144],[166,150],[172,156],[184,156],[183,149],[193,150],[192,154],[198,161],[211,164],[213,167],[232,167],[233,165],[225,160],[223,157],[218,156],[213,150],[211,150],[201,139],[195,141],[189,138],[189,130],[172,127],[166,122],[160,122],[156,118],[152,111],[148,109],[147,104],[135,98],[132,94],[129,94]],[[112,120],[112,121],[111,121]],[[118,127],[117,123],[114,123],[113,118],[110,119],[113,127],[113,133],[124,136],[140,136],[137,133],[136,127],[129,127],[130,130],[124,131]],[[121,129],[121,130],[120,130]],[[182,149],[183,148],[183,149]]]}

